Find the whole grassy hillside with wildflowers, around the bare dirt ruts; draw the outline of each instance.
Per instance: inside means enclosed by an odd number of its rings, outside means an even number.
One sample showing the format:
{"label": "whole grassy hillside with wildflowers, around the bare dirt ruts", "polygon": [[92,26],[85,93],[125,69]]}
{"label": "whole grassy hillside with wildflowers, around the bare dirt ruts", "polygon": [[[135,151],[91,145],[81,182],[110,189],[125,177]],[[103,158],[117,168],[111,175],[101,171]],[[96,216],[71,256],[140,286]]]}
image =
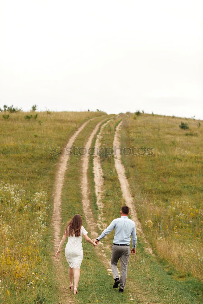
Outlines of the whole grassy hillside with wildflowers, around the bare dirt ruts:
{"label": "whole grassy hillside with wildflowers, around the bare dirt ruts", "polygon": [[[25,118],[30,112],[12,113],[9,119],[4,119],[0,113],[0,304],[62,302],[61,282],[51,259],[54,178],[59,152],[73,133],[93,117],[77,136],[74,142],[77,147],[84,147],[98,122],[112,118],[101,135],[100,147],[112,147],[116,126],[123,119],[122,148],[144,148],[138,150],[138,155],[125,149],[122,161],[138,217],[156,257],[145,253],[143,240],[138,238],[137,254],[129,261],[126,292],[118,295],[104,261],[97,255],[99,247],[92,250],[83,241],[80,289],[71,301],[76,304],[202,303],[202,121],[144,113],[114,116],[100,111],[34,114],[38,114],[36,119]],[[180,129],[181,121],[190,129]],[[95,138],[96,135],[92,145]],[[152,155],[139,155],[149,147]],[[84,219],[80,188],[82,161],[82,156],[74,154],[68,161],[62,188],[61,234],[74,213],[80,213]],[[113,155],[101,157],[100,161],[107,226],[119,217],[120,206],[125,202]],[[89,161],[88,183],[96,227],[93,156]],[[112,239],[113,233],[102,241],[104,246],[111,246]],[[109,259],[111,252],[106,249],[105,254]],[[68,278],[64,257],[62,264]]]}

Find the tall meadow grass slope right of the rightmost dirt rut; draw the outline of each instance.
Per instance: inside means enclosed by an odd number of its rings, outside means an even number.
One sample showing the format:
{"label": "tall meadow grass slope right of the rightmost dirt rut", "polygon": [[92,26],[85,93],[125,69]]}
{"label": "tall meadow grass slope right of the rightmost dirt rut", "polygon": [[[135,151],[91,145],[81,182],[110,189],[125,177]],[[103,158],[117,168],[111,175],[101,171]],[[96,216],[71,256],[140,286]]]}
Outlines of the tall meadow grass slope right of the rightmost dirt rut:
{"label": "tall meadow grass slope right of the rightmost dirt rut", "polygon": [[[180,129],[181,122],[190,129]],[[121,143],[122,148],[153,148],[150,156],[122,157],[148,240],[181,277],[192,274],[203,281],[202,121],[131,114],[123,121]]]}

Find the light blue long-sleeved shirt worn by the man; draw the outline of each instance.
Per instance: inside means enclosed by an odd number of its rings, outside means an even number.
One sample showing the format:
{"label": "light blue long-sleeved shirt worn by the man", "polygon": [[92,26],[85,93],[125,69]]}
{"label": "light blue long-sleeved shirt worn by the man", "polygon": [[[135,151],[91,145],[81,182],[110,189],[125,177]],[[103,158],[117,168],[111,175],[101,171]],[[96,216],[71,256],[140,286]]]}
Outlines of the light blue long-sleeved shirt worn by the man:
{"label": "light blue long-sleeved shirt worn by the man", "polygon": [[137,245],[137,234],[135,223],[128,216],[122,215],[118,219],[114,219],[111,224],[100,234],[98,240],[103,239],[115,228],[114,244],[130,245],[130,236],[132,237],[133,248]]}

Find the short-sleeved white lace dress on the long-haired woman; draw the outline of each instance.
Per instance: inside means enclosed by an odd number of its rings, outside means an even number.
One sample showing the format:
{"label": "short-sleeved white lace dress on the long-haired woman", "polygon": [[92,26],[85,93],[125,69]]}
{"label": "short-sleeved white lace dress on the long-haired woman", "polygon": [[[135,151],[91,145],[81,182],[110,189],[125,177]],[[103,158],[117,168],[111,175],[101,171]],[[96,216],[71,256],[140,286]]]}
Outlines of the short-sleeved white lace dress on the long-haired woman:
{"label": "short-sleeved white lace dress on the long-haired woman", "polygon": [[[67,230],[66,230],[67,232]],[[68,242],[65,248],[66,260],[70,268],[79,268],[83,260],[82,235],[88,232],[81,226],[80,236],[68,237]]]}

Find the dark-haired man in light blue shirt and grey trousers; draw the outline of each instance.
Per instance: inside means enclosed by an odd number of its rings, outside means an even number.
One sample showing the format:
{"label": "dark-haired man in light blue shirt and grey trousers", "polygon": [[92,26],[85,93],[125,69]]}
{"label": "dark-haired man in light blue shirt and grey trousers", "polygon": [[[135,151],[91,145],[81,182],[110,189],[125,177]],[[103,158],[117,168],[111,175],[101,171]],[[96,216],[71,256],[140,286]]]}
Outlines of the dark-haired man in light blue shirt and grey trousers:
{"label": "dark-haired man in light blue shirt and grey trousers", "polygon": [[[128,218],[128,215],[130,214],[129,208],[127,206],[121,207],[120,214],[121,217],[114,219],[95,240],[95,243],[98,245],[99,241],[115,228],[115,236],[111,247],[111,269],[115,280],[113,288],[118,288],[120,283],[119,292],[123,292],[126,284],[128,261],[130,257],[130,236],[132,237],[133,243],[131,253],[134,255],[136,253],[137,235],[134,221]],[[117,268],[119,258],[121,262],[120,280]]]}

